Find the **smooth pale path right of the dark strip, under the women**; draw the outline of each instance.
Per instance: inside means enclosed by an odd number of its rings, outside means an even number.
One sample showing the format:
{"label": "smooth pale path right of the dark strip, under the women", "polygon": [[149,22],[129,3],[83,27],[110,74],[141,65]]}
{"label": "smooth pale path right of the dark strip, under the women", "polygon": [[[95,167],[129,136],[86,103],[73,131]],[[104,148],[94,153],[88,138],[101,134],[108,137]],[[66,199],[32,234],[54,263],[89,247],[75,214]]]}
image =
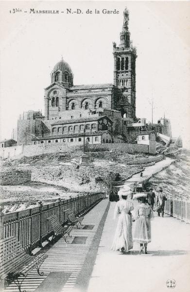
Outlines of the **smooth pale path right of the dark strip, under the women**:
{"label": "smooth pale path right of the dark strip, under the women", "polygon": [[155,217],[148,255],[138,255],[137,243],[129,255],[122,255],[110,250],[117,225],[115,204],[110,204],[87,292],[168,292],[168,279],[176,281],[174,292],[190,292],[190,224]]}

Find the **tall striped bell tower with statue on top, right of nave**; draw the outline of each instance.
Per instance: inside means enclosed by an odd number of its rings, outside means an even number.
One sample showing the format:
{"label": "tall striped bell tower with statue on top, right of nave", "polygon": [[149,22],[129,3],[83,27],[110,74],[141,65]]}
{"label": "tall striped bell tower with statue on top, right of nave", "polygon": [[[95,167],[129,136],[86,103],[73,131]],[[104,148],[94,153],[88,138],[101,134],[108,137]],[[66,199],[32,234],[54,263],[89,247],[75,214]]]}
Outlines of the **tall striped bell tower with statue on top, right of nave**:
{"label": "tall striped bell tower with statue on top, right of nave", "polygon": [[123,12],[123,25],[120,33],[119,47],[113,43],[114,55],[114,85],[122,91],[122,97],[117,101],[117,110],[121,115],[136,119],[136,48],[130,40],[128,29],[129,12]]}

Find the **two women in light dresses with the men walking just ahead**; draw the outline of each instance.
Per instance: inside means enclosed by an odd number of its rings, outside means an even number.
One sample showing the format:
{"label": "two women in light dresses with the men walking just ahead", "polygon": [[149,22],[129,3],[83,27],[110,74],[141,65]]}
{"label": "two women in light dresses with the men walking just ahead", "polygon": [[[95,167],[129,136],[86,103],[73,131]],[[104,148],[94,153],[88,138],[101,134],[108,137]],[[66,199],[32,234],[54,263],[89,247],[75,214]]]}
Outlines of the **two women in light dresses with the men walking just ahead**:
{"label": "two women in light dresses with the men walking just ahead", "polygon": [[[118,192],[120,200],[116,203],[114,218],[118,219],[116,232],[111,249],[128,253],[133,248],[133,242],[139,243],[139,254],[147,254],[147,244],[151,242],[151,219],[154,218],[153,208],[164,214],[164,205],[167,200],[159,189],[159,195],[150,188],[147,193],[139,193],[133,196],[132,191],[124,185]],[[134,210],[133,200],[138,200],[139,204]],[[134,211],[133,211],[134,210]],[[133,213],[133,215],[132,215]],[[132,236],[132,217],[135,220],[135,232]]]}

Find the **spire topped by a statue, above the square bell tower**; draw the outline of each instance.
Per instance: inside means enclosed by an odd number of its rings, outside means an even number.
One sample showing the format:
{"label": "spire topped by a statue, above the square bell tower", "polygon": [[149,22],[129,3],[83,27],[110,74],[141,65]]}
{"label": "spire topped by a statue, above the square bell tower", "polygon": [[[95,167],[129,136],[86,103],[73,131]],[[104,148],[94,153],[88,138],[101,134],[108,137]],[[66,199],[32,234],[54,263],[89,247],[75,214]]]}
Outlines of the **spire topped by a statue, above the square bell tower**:
{"label": "spire topped by a statue, above the square bell tower", "polygon": [[130,32],[128,28],[129,23],[129,11],[127,8],[123,11],[123,26],[120,33],[120,47],[129,48],[130,47]]}

